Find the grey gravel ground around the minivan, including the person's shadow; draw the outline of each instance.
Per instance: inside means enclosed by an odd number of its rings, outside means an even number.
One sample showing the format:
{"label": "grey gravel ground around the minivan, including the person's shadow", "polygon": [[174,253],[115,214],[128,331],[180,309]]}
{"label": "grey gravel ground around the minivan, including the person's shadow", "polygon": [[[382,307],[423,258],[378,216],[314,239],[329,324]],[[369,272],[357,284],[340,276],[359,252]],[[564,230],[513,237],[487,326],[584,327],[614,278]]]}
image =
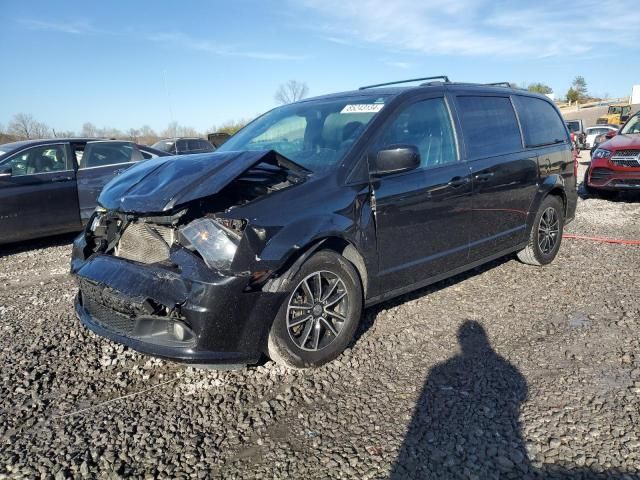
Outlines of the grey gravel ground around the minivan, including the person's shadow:
{"label": "grey gravel ground around the minivan, including the person's shadow", "polygon": [[[567,230],[639,221],[586,199]],[[384,303],[314,371],[215,371],[83,329],[70,241],[0,250],[0,478],[640,478],[638,246],[565,240]]]}

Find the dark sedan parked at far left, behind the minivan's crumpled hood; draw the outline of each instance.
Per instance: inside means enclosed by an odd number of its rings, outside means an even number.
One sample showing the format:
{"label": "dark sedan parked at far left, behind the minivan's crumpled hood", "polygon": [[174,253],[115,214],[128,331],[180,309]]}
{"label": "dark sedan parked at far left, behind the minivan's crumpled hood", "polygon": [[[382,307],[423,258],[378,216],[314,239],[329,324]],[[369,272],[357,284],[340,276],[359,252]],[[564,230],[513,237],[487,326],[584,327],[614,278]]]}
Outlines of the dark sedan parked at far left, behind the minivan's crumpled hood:
{"label": "dark sedan parked at far left, behind the minivan's crumpled hood", "polygon": [[0,145],[0,243],[79,231],[118,172],[164,152],[90,138]]}

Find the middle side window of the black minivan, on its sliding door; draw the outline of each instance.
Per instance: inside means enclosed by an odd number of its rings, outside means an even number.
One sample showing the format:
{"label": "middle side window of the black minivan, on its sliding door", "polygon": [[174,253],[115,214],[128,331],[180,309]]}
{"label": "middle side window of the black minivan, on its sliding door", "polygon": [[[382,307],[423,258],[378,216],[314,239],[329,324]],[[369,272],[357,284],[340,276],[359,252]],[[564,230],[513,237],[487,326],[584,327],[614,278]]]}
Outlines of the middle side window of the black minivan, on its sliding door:
{"label": "middle side window of the black minivan, on its sliding door", "polygon": [[520,129],[508,97],[458,97],[469,158],[522,150]]}

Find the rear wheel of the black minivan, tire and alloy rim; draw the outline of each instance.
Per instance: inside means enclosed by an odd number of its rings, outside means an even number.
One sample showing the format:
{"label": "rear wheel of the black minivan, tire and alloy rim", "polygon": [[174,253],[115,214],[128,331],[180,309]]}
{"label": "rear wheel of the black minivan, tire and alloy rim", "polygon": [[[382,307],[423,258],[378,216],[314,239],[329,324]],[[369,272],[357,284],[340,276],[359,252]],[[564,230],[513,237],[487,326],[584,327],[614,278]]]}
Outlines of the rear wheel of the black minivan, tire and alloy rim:
{"label": "rear wheel of the black minivan, tire and alloy rim", "polygon": [[[557,224],[553,219],[557,220]],[[528,245],[518,252],[518,259],[527,265],[547,265],[556,258],[564,229],[564,205],[555,195],[549,195],[540,205],[529,234]],[[555,231],[555,233],[553,233]],[[553,244],[551,244],[553,238]]]}

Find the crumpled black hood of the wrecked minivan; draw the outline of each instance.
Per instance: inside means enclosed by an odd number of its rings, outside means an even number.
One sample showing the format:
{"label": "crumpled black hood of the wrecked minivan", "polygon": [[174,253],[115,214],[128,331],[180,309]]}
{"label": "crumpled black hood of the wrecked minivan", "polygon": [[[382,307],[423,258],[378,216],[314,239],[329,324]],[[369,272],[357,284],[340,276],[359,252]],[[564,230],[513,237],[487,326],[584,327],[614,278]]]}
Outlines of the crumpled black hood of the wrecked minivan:
{"label": "crumpled black hood of the wrecked minivan", "polygon": [[160,157],[140,162],[115,177],[102,190],[98,203],[108,210],[127,213],[165,212],[218,193],[260,162],[307,172],[274,151]]}

